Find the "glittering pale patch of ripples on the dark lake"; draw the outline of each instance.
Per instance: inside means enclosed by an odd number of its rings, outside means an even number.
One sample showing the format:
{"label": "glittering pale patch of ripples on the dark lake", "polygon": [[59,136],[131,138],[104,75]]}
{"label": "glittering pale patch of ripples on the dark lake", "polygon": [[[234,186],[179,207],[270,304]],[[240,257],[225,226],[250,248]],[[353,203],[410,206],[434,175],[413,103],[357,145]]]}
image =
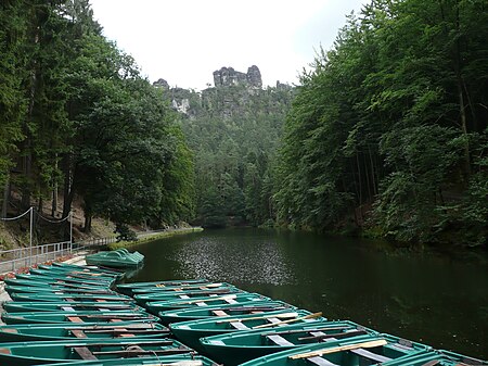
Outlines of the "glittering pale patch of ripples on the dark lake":
{"label": "glittering pale patch of ripples on the dark lake", "polygon": [[[216,255],[222,253],[222,255]],[[287,263],[277,242],[221,242],[207,237],[195,240],[172,253],[169,260],[180,263],[178,276],[201,277],[227,282],[295,283],[293,265]]]}

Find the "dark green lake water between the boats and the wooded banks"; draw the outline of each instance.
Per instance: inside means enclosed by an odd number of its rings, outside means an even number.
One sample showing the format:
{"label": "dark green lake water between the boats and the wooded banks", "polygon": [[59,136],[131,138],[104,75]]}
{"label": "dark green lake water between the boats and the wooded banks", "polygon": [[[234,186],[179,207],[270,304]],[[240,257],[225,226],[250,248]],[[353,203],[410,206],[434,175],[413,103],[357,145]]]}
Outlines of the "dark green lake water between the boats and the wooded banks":
{"label": "dark green lake water between the boats and the wooded banks", "polygon": [[130,281],[205,277],[330,319],[488,358],[486,253],[412,252],[303,232],[229,229],[137,247]]}

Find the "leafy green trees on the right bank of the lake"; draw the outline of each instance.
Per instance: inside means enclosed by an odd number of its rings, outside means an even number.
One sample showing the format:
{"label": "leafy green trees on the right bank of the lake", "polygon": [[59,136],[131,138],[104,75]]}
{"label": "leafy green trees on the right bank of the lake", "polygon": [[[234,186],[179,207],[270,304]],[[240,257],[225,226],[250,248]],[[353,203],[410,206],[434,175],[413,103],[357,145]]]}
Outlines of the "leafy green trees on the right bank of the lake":
{"label": "leafy green trees on the right bank of the lake", "polygon": [[281,224],[486,243],[488,4],[374,0],[301,76]]}

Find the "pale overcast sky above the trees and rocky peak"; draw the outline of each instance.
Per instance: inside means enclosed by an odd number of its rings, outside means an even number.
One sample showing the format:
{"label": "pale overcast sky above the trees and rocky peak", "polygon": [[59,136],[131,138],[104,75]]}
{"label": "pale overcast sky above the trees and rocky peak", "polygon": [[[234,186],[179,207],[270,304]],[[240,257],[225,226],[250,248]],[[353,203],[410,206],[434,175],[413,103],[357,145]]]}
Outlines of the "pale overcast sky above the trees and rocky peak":
{"label": "pale overcast sky above the trees and rocky peak", "polygon": [[104,35],[151,81],[204,89],[213,72],[257,65],[265,85],[296,84],[367,0],[90,0]]}

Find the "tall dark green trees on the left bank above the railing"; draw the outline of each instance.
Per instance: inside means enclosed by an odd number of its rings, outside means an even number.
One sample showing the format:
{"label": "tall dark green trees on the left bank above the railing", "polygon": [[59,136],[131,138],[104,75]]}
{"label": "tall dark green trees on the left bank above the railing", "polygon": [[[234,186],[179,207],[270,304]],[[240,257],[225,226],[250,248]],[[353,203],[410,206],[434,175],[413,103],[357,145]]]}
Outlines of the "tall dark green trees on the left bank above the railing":
{"label": "tall dark green trees on the left bank above the railing", "polygon": [[177,115],[102,36],[88,1],[0,10],[1,217],[30,205],[66,217],[79,197],[87,231],[93,216],[119,227],[190,218],[193,166]]}

